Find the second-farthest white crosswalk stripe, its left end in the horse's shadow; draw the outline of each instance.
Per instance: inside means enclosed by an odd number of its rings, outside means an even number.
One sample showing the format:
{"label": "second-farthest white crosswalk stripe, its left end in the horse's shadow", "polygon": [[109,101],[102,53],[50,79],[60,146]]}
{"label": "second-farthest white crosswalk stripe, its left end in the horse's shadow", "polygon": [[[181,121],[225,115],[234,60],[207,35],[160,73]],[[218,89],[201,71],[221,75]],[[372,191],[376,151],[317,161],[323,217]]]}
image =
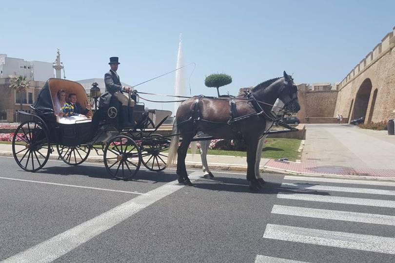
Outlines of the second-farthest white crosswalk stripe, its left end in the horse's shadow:
{"label": "second-farthest white crosswalk stripe, its left end in the horse's shadow", "polygon": [[393,190],[382,190],[382,189],[373,189],[373,188],[321,186],[321,185],[314,185],[314,184],[282,183],[281,188],[297,188],[297,189],[309,189],[309,190],[320,190],[320,191],[395,195],[395,191],[393,191]]}

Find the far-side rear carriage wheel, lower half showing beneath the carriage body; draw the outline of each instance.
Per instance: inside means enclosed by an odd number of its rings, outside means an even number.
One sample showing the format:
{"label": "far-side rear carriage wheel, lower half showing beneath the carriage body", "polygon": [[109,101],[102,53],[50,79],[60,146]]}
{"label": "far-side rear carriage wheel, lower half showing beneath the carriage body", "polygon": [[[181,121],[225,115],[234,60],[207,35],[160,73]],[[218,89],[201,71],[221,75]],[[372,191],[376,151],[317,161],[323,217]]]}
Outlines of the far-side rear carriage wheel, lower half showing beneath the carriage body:
{"label": "far-side rear carriage wheel, lower half showing beneath the carriage body", "polygon": [[59,158],[68,165],[79,165],[85,162],[86,158],[91,152],[89,146],[65,146],[56,145],[58,150]]}

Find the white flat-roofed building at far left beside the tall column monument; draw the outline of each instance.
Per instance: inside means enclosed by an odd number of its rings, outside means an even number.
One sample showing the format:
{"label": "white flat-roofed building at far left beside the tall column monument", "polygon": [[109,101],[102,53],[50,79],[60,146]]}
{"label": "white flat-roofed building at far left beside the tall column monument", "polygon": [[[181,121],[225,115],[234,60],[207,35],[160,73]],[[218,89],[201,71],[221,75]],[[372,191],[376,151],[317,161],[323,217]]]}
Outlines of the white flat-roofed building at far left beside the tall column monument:
{"label": "white flat-roofed building at far left beside the tall column monument", "polygon": [[47,81],[55,77],[51,62],[26,61],[22,58],[0,54],[0,77],[26,76],[28,80]]}

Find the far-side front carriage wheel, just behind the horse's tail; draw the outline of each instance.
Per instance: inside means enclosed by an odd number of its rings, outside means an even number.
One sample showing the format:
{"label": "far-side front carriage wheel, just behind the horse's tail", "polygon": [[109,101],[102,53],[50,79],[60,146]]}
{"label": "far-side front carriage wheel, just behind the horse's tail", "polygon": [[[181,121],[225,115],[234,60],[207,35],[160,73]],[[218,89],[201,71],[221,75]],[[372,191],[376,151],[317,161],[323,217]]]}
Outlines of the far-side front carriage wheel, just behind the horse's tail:
{"label": "far-side front carriage wheel, just behind the horse's tail", "polygon": [[160,134],[152,134],[141,142],[142,164],[151,171],[166,169],[167,155],[164,151],[169,149],[170,142]]}

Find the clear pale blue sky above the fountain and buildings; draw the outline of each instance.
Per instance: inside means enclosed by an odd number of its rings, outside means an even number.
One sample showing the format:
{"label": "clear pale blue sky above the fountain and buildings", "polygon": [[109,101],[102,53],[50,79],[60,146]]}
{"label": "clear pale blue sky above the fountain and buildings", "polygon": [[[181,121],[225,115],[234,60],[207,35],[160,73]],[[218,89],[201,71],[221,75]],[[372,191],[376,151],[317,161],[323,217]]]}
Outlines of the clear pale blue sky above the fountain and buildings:
{"label": "clear pale blue sky above the fountain and buildings", "polygon": [[[1,9],[0,53],[53,62],[59,48],[71,80],[103,77],[110,56],[130,85],[171,71],[182,33],[192,94],[206,95],[216,72],[233,77],[223,94],[283,70],[297,83],[341,81],[395,26],[393,0],[2,0]],[[138,90],[173,94],[174,83],[171,74]]]}

